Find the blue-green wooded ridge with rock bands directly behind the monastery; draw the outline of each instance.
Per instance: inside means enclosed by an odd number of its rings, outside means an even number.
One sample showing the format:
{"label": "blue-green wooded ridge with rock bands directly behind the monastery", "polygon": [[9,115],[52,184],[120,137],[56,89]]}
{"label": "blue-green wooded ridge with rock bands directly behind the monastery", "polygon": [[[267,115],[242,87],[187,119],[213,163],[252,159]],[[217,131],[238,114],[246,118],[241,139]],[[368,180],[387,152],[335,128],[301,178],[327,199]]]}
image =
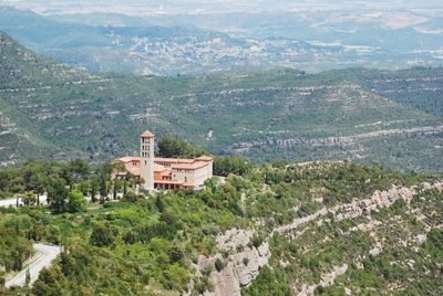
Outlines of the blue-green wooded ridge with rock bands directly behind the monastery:
{"label": "blue-green wooded ridge with rock bands directly behind the monastery", "polygon": [[92,75],[39,57],[6,34],[1,40],[3,165],[31,156],[99,161],[136,154],[150,127],[258,161],[443,166],[442,68]]}

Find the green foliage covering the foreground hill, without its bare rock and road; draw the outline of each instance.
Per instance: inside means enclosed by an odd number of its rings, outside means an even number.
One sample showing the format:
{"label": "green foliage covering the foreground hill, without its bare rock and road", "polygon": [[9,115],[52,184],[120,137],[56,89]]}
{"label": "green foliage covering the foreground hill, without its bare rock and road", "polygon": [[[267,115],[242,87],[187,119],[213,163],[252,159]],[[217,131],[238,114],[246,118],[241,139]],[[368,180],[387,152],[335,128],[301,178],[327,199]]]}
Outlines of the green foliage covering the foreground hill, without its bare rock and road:
{"label": "green foliage covering the foreground hill, without its bare rock and road", "polygon": [[[30,163],[39,162],[30,161],[17,170],[24,171]],[[241,163],[235,169],[241,170]],[[54,168],[72,167],[72,163],[53,165]],[[66,199],[66,204],[76,203],[82,194],[75,188],[84,186],[85,180],[103,168],[90,169],[84,178],[71,182],[73,190],[68,194],[73,198]],[[17,258],[24,260],[32,254],[30,240],[64,245],[62,255],[41,273],[32,288],[3,289],[2,293],[60,295],[75,290],[81,295],[155,295],[189,292],[190,281],[194,294],[203,293],[214,288],[210,273],[223,272],[228,262],[218,257],[213,266],[199,272],[195,264],[202,256],[215,256],[219,252],[216,236],[234,228],[255,229],[251,247],[260,246],[266,240],[271,246],[270,265],[261,268],[256,281],[243,289],[245,295],[290,295],[293,287],[318,283],[324,272],[342,263],[349,265],[346,274],[339,276],[334,285],[319,288],[317,293],[342,294],[343,286],[354,293],[372,288],[381,293],[392,283],[402,287],[395,289],[398,293],[435,294],[441,289],[437,274],[443,261],[442,233],[437,225],[443,209],[441,192],[436,190],[423,191],[410,204],[398,201],[371,215],[342,221],[328,216],[329,222],[309,222],[305,231],[291,240],[274,232],[322,207],[349,204],[392,184],[432,183],[439,176],[399,173],[380,166],[352,162],[290,165],[285,161],[262,166],[248,163],[241,175],[230,173],[223,182],[210,179],[202,191],[158,192],[146,199],[140,199],[140,193],[127,188],[128,198],[102,204],[90,202],[83,209],[85,212],[80,213],[54,214],[42,204],[0,209],[0,231],[2,237],[7,237],[2,240],[0,264],[7,266],[7,271],[20,268]],[[69,189],[68,183],[64,188]],[[424,221],[416,220],[413,213],[418,211],[424,214]],[[385,242],[378,256],[365,255],[374,243],[371,235],[350,231],[368,219],[382,225],[374,229],[378,239]],[[432,228],[427,240],[414,249],[411,237],[423,233],[425,225]],[[408,247],[402,241],[409,242]],[[409,247],[410,244],[414,247]],[[13,253],[17,250],[20,256]],[[392,261],[410,258],[419,264],[416,268],[408,264],[390,265]],[[243,262],[253,264],[247,258]],[[404,274],[415,281],[410,282]]]}

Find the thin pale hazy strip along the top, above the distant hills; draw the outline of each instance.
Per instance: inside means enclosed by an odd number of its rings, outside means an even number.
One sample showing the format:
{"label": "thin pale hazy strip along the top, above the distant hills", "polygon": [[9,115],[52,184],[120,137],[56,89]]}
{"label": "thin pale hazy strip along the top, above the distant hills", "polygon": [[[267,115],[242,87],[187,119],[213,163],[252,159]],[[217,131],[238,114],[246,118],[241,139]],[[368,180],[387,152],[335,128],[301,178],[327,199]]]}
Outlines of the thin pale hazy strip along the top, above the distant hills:
{"label": "thin pale hazy strip along the top, above the distant hills", "polygon": [[117,12],[214,13],[229,11],[288,11],[312,9],[412,9],[443,8],[443,0],[0,0],[2,6],[31,9],[40,13]]}

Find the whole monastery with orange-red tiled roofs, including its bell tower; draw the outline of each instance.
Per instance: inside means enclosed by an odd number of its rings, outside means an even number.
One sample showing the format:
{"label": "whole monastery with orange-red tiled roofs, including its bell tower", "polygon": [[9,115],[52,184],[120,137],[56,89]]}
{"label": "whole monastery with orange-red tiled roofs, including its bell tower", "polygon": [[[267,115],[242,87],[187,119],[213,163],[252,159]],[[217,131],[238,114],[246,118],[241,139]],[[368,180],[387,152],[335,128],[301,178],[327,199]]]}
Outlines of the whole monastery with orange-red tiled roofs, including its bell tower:
{"label": "whole monastery with orange-red tiled roofs, including its bell tower", "polygon": [[114,171],[114,178],[132,173],[144,180],[143,188],[200,190],[204,182],[213,177],[213,158],[202,156],[195,159],[158,158],[154,156],[154,134],[146,130],[141,136],[140,157],[122,157],[125,171]]}

